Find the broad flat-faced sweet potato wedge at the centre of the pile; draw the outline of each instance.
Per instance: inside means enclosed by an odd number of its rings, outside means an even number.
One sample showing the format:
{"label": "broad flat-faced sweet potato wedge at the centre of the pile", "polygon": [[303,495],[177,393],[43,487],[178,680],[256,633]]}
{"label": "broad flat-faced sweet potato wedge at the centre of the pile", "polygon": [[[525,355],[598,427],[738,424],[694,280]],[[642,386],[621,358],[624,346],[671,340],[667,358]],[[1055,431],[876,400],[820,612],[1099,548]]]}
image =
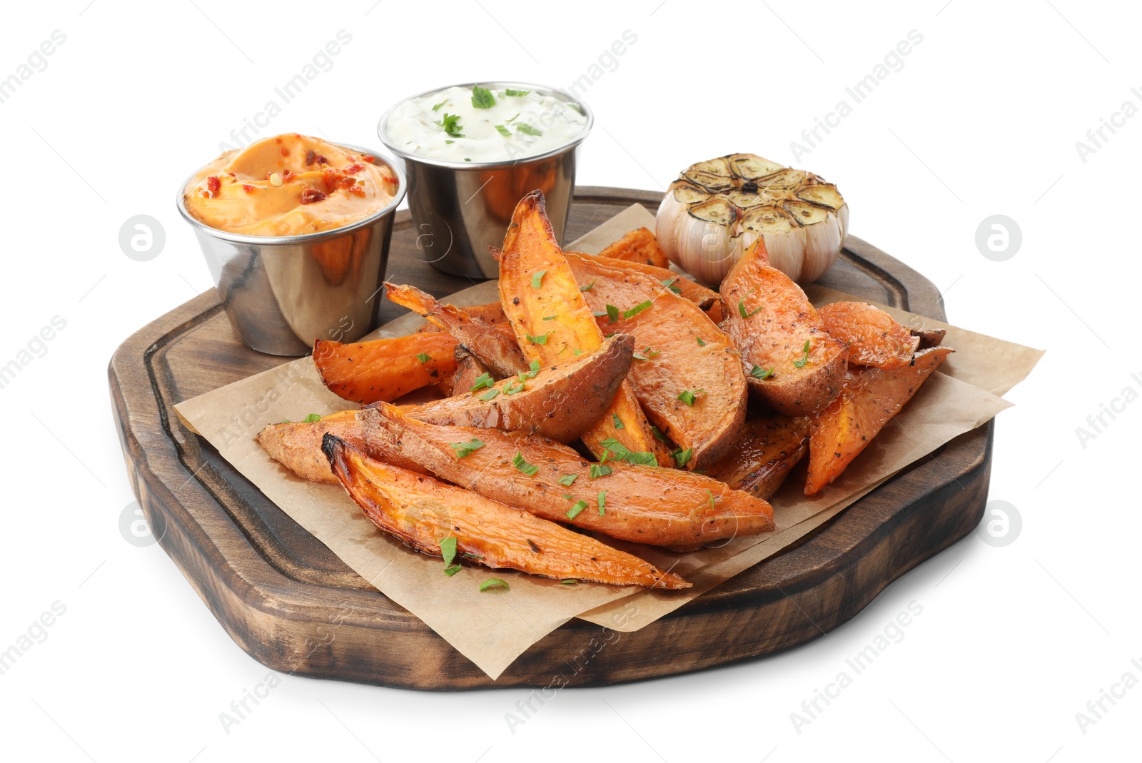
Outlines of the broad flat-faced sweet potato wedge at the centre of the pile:
{"label": "broad flat-faced sweet potato wedge at the centre of the pile", "polygon": [[[730,337],[698,305],[653,278],[581,257],[568,262],[576,279],[594,283],[582,294],[600,330],[635,338],[641,358],[627,379],[646,417],[691,451],[686,468],[708,468],[733,444],[746,419],[746,377]],[[698,389],[693,404],[678,399]]]}

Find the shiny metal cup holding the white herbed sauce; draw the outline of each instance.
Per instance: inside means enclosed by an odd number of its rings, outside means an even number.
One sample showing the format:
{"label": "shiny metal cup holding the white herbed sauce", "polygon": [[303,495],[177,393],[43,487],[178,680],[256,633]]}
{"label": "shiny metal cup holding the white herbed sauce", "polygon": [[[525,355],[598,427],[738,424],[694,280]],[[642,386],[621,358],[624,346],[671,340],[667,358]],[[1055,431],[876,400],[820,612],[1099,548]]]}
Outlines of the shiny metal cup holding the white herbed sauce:
{"label": "shiny metal cup holding the white herbed sauce", "polygon": [[[426,90],[397,102],[377,125],[385,147],[404,160],[409,176],[409,210],[417,231],[417,251],[425,262],[453,275],[493,279],[499,264],[488,247],[504,246],[504,233],[515,206],[526,193],[539,188],[547,199],[547,216],[555,238],[563,240],[563,226],[571,210],[574,191],[576,148],[590,132],[594,115],[582,101],[556,88],[530,82],[469,82],[490,90],[513,88],[532,90],[571,104],[586,118],[582,131],[566,145],[546,153],[512,159],[505,150],[502,161],[455,162],[419,156],[402,151],[388,136],[388,119],[407,101],[440,93]],[[449,86],[451,87],[451,86]]]}

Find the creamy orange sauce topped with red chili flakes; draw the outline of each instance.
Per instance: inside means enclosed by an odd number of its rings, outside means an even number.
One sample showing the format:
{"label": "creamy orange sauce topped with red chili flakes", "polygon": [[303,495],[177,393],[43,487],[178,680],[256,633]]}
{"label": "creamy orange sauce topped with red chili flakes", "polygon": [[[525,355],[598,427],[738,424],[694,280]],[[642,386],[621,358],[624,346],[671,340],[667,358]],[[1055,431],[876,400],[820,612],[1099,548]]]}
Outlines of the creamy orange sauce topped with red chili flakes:
{"label": "creamy orange sauce topped with red chili flakes", "polygon": [[186,209],[210,227],[244,235],[301,235],[380,211],[396,176],[359,152],[305,135],[227,151],[187,184]]}

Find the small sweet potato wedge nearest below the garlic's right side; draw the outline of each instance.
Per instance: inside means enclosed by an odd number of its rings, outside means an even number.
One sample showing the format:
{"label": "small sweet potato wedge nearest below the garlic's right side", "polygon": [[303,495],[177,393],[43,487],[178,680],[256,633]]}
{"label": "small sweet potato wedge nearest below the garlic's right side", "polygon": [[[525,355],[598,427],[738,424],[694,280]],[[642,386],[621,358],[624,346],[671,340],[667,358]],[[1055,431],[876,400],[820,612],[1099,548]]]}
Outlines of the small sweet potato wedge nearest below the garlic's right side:
{"label": "small sweet potato wedge nearest below the garlic's right side", "polygon": [[903,368],[912,362],[920,338],[879,307],[864,302],[836,302],[818,311],[825,330],[849,347],[849,363]]}

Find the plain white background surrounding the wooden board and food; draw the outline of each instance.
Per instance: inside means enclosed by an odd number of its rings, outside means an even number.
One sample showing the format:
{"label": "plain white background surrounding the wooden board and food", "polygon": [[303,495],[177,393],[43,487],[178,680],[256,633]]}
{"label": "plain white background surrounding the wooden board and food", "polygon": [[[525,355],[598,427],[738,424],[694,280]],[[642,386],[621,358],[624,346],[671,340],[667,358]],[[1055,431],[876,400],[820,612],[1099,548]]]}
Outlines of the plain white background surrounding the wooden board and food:
{"label": "plain white background surrounding the wooden board and food", "polygon": [[[0,389],[0,649],[53,602],[66,612],[0,675],[3,756],[1136,757],[1142,688],[1107,704],[1085,733],[1076,713],[1124,673],[1142,680],[1131,664],[1142,658],[1142,522],[1125,487],[1137,472],[1142,404],[1104,417],[1085,443],[1076,427],[1125,387],[1142,391],[1132,355],[1142,118],[1105,132],[1085,161],[1076,142],[1124,102],[1142,105],[1131,93],[1142,86],[1142,15],[1126,2],[946,1],[6,8],[0,78],[54,30],[66,42],[0,104],[0,364],[53,316],[66,328]],[[522,691],[417,693],[299,677],[224,731],[219,713],[266,669],[226,636],[159,546],[121,537],[134,497],[106,363],[136,329],[211,286],[175,211],[179,182],[341,29],[353,39],[332,69],[262,135],[377,145],[377,118],[403,96],[473,80],[566,86],[630,30],[637,41],[586,94],[596,129],[579,182],[645,188],[734,151],[791,163],[790,142],[919,32],[903,67],[797,164],[838,184],[856,235],[947,294],[952,322],[1048,351],[998,420],[991,498],[1022,516],[1014,543],[972,536],[851,623],[777,657],[562,691],[514,734],[504,715]],[[151,262],[118,244],[138,214],[166,228]],[[1006,262],[975,244],[976,226],[995,214],[1022,230]],[[798,733],[790,714],[802,700],[912,601],[923,613],[904,638]],[[662,650],[668,659],[669,644]]]}

